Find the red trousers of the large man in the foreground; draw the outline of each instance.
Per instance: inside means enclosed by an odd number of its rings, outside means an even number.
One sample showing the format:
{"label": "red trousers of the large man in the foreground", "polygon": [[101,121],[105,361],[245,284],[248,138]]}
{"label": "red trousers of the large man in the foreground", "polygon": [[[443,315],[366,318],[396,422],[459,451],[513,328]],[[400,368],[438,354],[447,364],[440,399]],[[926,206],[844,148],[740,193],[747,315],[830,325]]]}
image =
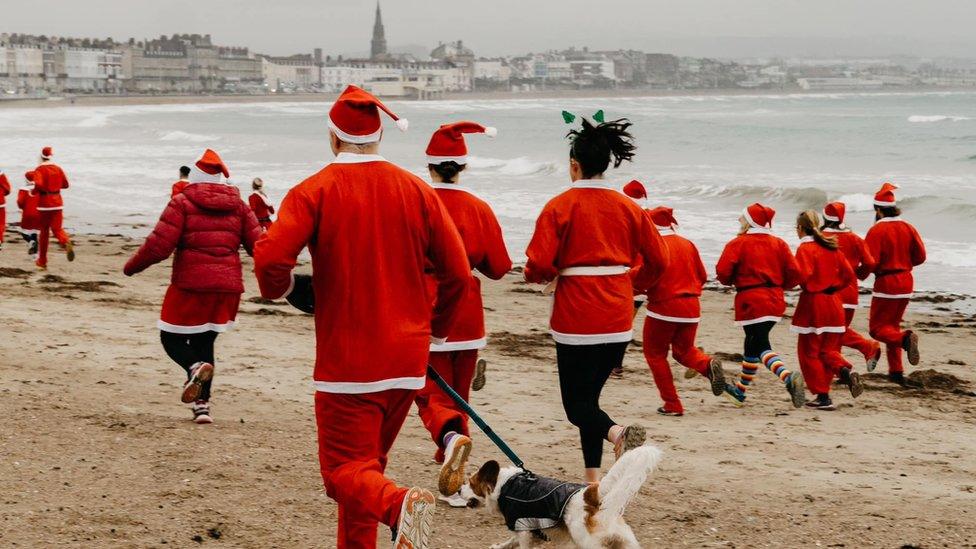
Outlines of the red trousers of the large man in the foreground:
{"label": "red trousers of the large man in the foreground", "polygon": [[384,471],[416,395],[404,389],[315,393],[322,481],[339,504],[338,549],[373,549],[379,523],[397,524],[407,489]]}

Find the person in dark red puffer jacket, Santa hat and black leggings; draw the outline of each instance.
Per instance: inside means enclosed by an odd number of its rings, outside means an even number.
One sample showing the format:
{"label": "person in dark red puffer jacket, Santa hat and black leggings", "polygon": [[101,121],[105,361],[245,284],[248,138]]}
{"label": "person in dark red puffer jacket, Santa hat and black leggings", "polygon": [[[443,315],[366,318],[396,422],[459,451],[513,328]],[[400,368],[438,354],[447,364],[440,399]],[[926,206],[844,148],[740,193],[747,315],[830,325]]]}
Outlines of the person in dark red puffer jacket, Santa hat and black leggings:
{"label": "person in dark red puffer jacket, Santa hat and black leggings", "polygon": [[207,149],[123,269],[132,276],[176,253],[158,327],[166,354],[186,372],[181,400],[199,424],[213,422],[214,342],[233,327],[244,293],[240,248],[251,254],[261,235],[240,191],[221,176],[227,166]]}

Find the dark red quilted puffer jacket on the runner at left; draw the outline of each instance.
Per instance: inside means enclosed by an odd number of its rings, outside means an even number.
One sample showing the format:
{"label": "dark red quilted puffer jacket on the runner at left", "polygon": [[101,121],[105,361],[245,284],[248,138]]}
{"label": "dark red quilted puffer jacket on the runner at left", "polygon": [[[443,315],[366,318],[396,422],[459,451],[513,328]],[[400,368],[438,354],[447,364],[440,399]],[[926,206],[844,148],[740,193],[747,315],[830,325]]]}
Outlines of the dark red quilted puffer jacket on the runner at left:
{"label": "dark red quilted puffer jacket on the runner at left", "polygon": [[194,183],[170,200],[124,272],[132,276],[144,271],[175,250],[174,286],[196,292],[243,293],[239,249],[243,244],[250,255],[260,235],[261,226],[237,187]]}

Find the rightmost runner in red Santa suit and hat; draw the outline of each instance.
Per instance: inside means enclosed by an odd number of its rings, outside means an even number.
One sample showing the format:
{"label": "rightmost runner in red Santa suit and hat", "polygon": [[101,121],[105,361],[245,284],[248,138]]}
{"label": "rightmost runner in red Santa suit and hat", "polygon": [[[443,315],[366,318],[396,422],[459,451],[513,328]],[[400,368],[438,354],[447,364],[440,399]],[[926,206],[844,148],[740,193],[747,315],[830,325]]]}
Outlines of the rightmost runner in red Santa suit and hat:
{"label": "rightmost runner in red Santa suit and hat", "polygon": [[907,352],[909,364],[919,363],[918,334],[902,330],[901,323],[915,290],[912,269],[925,263],[925,244],[915,227],[901,218],[895,200],[897,188],[885,182],[874,195],[875,223],[864,237],[877,260],[868,331],[885,344],[888,379],[899,385],[914,385],[905,378],[902,351]]}

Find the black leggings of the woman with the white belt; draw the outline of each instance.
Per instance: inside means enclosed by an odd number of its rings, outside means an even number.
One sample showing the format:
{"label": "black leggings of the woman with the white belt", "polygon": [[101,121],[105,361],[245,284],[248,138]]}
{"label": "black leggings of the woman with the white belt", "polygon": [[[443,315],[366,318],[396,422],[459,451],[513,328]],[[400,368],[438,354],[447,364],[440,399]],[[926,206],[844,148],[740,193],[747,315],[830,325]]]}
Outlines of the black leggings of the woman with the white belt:
{"label": "black leggings of the woman with the white belt", "polygon": [[624,361],[627,345],[566,345],[556,343],[556,365],[559,369],[559,391],[563,409],[570,423],[579,428],[583,463],[587,468],[600,467],[603,440],[616,422],[600,409],[600,392],[614,368]]}

